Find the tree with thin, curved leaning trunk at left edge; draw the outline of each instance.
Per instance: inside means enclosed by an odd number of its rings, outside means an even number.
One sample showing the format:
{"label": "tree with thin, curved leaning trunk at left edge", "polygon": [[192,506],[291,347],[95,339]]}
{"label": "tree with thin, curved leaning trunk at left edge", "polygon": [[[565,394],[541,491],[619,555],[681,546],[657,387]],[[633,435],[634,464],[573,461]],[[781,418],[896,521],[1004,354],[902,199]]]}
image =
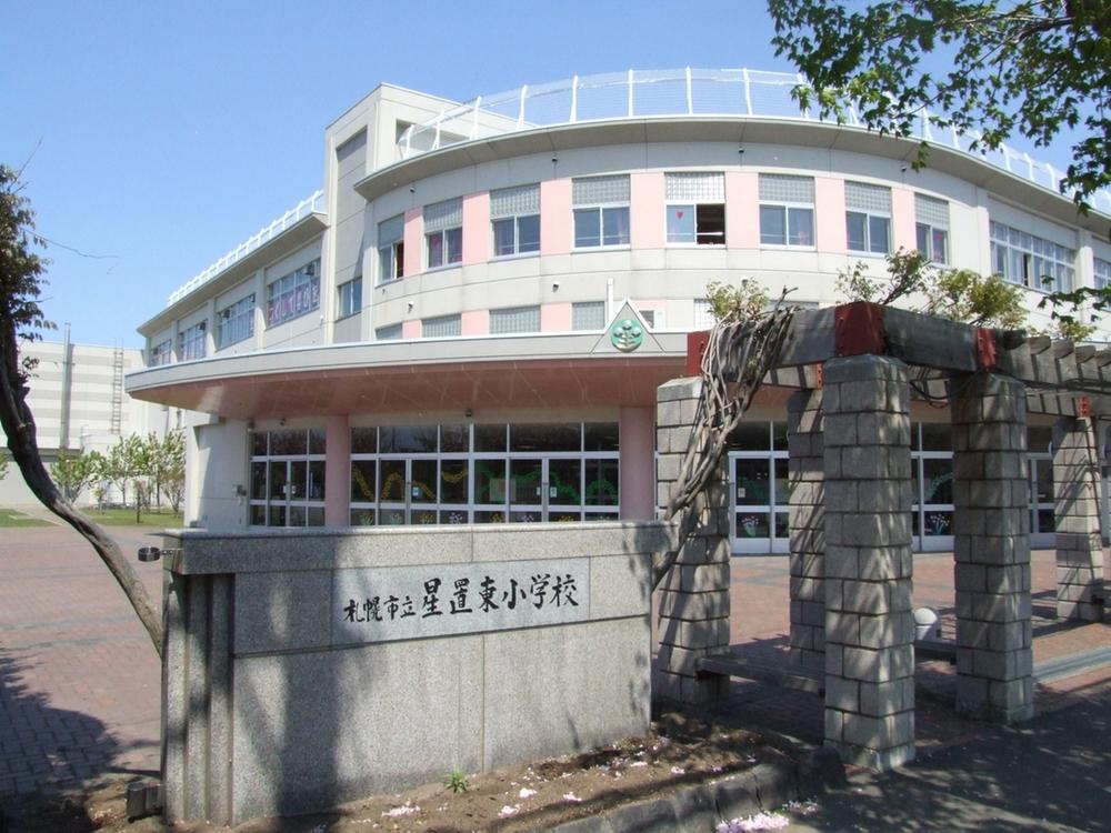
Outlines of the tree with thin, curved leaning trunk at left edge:
{"label": "tree with thin, curved leaning trunk at left edge", "polygon": [[34,415],[27,403],[33,362],[20,355],[19,343],[40,338],[50,327],[39,305],[47,262],[38,250],[43,245],[34,233],[34,212],[22,194],[19,173],[0,165],[0,428],[28,488],[92,545],[161,656],[162,621],[147,589],[119,545],[62,496],[39,454]]}

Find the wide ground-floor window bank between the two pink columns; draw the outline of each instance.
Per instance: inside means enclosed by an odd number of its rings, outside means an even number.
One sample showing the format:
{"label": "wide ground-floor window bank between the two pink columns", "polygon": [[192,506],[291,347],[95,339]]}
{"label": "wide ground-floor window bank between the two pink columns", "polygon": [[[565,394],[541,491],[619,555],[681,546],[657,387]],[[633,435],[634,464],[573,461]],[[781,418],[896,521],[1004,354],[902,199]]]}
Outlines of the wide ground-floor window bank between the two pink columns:
{"label": "wide ground-floor window bank between the two pink columns", "polygon": [[615,422],[356,426],[351,524],[615,520]]}

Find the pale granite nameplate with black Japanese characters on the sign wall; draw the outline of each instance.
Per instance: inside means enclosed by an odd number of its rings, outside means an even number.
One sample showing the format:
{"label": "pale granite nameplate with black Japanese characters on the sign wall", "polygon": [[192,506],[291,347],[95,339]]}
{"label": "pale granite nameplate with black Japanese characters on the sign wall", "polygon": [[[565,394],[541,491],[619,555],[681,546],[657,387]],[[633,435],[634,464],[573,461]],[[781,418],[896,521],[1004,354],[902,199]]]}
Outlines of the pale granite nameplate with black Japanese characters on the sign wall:
{"label": "pale granite nameplate with black Japanese characters on the sign wall", "polygon": [[333,643],[356,644],[589,619],[589,559],[338,570]]}

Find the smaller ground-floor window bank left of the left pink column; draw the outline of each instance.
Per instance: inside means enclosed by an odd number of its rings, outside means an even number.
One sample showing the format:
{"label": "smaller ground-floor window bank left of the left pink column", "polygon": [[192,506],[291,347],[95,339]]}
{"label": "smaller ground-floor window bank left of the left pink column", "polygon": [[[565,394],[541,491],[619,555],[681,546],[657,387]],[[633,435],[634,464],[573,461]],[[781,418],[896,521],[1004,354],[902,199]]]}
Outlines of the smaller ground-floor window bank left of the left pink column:
{"label": "smaller ground-floor window bank left of the left pink column", "polygon": [[256,431],[251,438],[252,526],[324,525],[323,429]]}

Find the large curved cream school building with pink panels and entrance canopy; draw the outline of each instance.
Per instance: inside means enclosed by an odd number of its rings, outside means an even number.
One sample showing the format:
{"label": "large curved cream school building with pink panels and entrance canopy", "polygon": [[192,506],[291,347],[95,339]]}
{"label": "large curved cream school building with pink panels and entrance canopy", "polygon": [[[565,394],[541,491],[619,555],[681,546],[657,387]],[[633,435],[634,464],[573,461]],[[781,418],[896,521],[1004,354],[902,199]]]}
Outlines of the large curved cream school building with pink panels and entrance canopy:
{"label": "large curved cream school building with pink panels and entrance canopy", "polygon": [[[644,519],[655,389],[712,281],[839,300],[920,249],[1022,287],[1111,281],[1111,194],[970,138],[820,121],[795,76],[575,77],[469,103],[383,84],[324,131],[323,188],[140,327],[128,389],[194,412],[187,521],[212,529]],[[1105,337],[1107,333],[1103,333]],[[733,549],[785,551],[788,391],[730,452]],[[952,545],[949,416],[915,402],[915,545]],[[1032,415],[1034,542],[1051,416]]]}

